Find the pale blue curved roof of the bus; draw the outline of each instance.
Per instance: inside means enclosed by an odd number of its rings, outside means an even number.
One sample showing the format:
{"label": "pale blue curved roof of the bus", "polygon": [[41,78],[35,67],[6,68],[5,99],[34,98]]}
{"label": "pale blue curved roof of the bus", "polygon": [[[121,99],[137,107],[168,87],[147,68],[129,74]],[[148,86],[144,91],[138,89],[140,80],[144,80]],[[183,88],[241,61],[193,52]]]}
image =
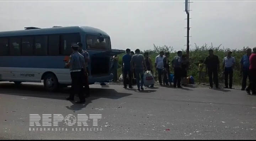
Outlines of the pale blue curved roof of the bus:
{"label": "pale blue curved roof of the bus", "polygon": [[87,26],[73,26],[73,27],[53,27],[53,28],[39,28],[0,32],[0,37],[5,36],[26,36],[26,35],[47,35],[47,34],[63,34],[63,33],[85,33],[90,35],[100,35],[109,38],[110,36],[100,29]]}

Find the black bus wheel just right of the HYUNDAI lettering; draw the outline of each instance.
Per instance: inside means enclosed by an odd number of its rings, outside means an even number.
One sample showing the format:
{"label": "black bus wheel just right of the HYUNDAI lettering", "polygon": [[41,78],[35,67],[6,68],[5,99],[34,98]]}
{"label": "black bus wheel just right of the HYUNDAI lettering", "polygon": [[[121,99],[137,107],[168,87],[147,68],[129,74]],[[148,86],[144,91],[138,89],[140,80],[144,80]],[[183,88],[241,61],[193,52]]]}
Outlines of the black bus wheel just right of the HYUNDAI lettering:
{"label": "black bus wheel just right of the HYUNDAI lettering", "polygon": [[58,90],[59,82],[53,73],[48,73],[44,76],[44,88],[50,92],[55,92]]}

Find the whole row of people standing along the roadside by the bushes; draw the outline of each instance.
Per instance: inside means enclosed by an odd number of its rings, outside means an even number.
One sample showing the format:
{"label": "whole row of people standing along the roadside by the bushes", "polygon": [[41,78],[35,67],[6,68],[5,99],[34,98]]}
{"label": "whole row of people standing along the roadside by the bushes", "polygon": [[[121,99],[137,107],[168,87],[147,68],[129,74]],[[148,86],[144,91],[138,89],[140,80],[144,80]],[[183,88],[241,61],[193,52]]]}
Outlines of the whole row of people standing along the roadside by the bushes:
{"label": "whole row of people standing along the roadside by the bushes", "polygon": [[[218,74],[220,72],[220,62],[219,57],[214,55],[213,50],[210,49],[209,56],[206,57],[206,60],[201,61],[201,69],[202,64],[205,64],[206,73],[209,76],[210,89],[213,89],[213,84],[217,89],[219,89],[219,80]],[[242,89],[246,90],[248,94],[250,94],[250,90],[252,90],[252,94],[256,94],[255,92],[255,84],[256,84],[256,47],[252,50],[248,48],[246,50],[246,55],[244,55],[240,60],[240,72],[243,76],[242,79]],[[126,55],[123,56],[123,76],[124,76],[124,88],[127,88],[127,74],[129,75],[129,88],[132,88],[132,74],[135,71],[138,90],[143,89],[143,75],[145,71],[152,71],[152,61],[149,58],[148,52],[144,53],[144,56],[140,54],[140,50],[135,50],[135,55],[130,55],[130,49],[126,50]],[[165,56],[164,56],[165,55]],[[235,66],[235,58],[231,56],[232,52],[228,51],[227,56],[223,59],[223,74],[225,77],[225,87],[224,89],[230,88],[233,89],[233,68]],[[155,68],[158,72],[158,80],[160,85],[164,83],[164,85],[169,85],[170,80],[170,65],[169,65],[169,52],[161,51],[159,55],[155,59]],[[174,85],[173,87],[182,88],[181,87],[181,79],[182,77],[187,76],[187,70],[189,68],[189,62],[185,55],[182,55],[182,51],[177,52],[177,56],[171,61],[172,67],[174,68]],[[203,65],[204,66],[204,65]],[[200,72],[199,71],[199,72]],[[200,73],[201,74],[201,73]],[[164,75],[162,80],[162,75]],[[202,75],[202,74],[201,74]],[[201,77],[201,76],[199,76]],[[247,77],[249,77],[250,85],[246,88]],[[141,81],[140,81],[141,78]],[[170,83],[171,85],[171,83]]]}

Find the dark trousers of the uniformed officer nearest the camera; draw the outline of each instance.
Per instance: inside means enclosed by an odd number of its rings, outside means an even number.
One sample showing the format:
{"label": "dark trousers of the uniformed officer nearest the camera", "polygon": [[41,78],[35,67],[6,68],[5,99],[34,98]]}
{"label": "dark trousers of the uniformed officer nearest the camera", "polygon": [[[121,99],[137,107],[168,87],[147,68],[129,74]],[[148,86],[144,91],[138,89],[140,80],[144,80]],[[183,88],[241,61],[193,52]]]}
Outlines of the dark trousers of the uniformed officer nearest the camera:
{"label": "dark trousers of the uniformed officer nearest the camera", "polygon": [[70,98],[74,98],[75,94],[79,94],[80,101],[85,101],[84,94],[82,92],[82,71],[81,72],[71,72],[71,93]]}

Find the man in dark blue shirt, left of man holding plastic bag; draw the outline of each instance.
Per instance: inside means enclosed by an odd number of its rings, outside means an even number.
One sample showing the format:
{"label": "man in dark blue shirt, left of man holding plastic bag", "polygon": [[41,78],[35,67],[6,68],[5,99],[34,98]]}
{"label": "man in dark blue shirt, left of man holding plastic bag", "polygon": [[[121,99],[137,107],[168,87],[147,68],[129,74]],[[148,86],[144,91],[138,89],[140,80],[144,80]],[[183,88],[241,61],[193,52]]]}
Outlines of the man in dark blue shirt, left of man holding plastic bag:
{"label": "man in dark blue shirt, left of man holding plastic bag", "polygon": [[129,76],[129,88],[132,87],[132,72],[130,67],[130,61],[132,56],[130,56],[130,49],[126,49],[126,55],[123,56],[122,70],[123,70],[123,84],[124,88],[127,88],[127,74]]}

